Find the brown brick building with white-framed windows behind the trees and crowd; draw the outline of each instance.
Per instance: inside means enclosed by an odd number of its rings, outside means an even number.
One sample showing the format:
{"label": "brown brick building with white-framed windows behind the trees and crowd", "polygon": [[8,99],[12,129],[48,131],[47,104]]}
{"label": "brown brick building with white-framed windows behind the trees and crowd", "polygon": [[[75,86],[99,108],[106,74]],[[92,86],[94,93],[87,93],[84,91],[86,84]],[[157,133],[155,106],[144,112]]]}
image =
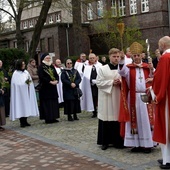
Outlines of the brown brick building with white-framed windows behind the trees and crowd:
{"label": "brown brick building with white-framed windows behind the trees and crowd", "polygon": [[[135,16],[138,21],[142,38],[149,39],[151,51],[157,48],[158,40],[170,34],[170,3],[169,0],[94,0],[86,3],[82,1],[82,28],[83,52],[88,53],[93,46],[97,54],[105,54],[104,47],[96,47],[92,42],[90,28],[100,22],[104,11],[111,10],[113,19],[121,17],[125,26]],[[34,25],[40,13],[40,2],[34,2],[23,11],[21,29],[25,41],[25,50],[28,50]],[[68,1],[68,6],[71,5]],[[49,10],[44,29],[41,34],[37,53],[49,51],[55,58],[64,60],[67,56],[74,55],[71,8],[60,8],[54,4]],[[0,34],[0,48],[16,47],[15,31]],[[100,49],[100,53],[99,50]],[[54,59],[55,59],[54,58]]]}

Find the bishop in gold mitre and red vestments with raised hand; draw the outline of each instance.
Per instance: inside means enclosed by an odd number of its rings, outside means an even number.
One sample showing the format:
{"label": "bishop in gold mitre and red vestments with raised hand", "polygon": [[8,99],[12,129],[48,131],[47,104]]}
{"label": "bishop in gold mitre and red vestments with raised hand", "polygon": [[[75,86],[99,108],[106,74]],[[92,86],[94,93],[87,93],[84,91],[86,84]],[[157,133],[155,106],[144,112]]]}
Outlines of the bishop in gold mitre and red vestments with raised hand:
{"label": "bishop in gold mitre and red vestments with raised hand", "polygon": [[[120,61],[119,74],[125,79],[122,83],[124,95],[121,102],[120,122],[125,122],[124,146],[132,147],[132,152],[150,153],[151,148],[155,145],[152,140],[153,129],[153,108],[152,105],[146,105],[141,100],[141,94],[145,93],[149,77],[153,75],[153,66],[142,62],[143,47],[141,44],[134,42],[130,46],[132,53],[132,64],[125,64],[122,57]],[[122,63],[122,64],[121,64]],[[123,97],[124,96],[124,97]],[[127,106],[126,101],[127,100]],[[129,115],[122,108],[128,108]],[[123,120],[124,117],[126,120]],[[128,119],[129,117],[129,119]]]}

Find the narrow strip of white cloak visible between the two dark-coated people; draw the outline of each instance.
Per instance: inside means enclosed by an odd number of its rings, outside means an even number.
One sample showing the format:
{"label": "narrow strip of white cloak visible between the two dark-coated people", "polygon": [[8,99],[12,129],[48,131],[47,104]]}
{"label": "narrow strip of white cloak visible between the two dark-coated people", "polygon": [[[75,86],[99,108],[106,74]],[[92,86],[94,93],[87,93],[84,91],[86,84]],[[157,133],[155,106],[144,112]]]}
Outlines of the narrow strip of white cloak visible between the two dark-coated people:
{"label": "narrow strip of white cloak visible between the two dark-coated people", "polygon": [[63,83],[61,81],[61,68],[55,67],[57,74],[59,75],[59,82],[57,83],[57,92],[58,92],[58,103],[63,103]]}

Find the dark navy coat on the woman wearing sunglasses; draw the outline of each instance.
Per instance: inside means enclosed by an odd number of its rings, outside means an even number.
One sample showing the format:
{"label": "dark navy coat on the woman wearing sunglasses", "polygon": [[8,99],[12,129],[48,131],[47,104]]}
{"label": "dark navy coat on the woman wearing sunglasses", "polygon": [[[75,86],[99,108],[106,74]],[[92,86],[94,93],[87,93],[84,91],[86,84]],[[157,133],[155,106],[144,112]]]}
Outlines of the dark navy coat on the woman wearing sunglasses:
{"label": "dark navy coat on the woman wearing sunglasses", "polygon": [[[68,73],[68,75],[67,75]],[[76,73],[76,74],[75,74]],[[70,77],[73,77],[73,75],[76,75],[74,83],[76,84],[76,88],[79,87],[79,84],[81,82],[81,77],[78,71],[74,68],[71,70],[66,70],[64,69],[63,72],[61,73],[61,81],[63,83],[63,98],[64,100],[74,100],[75,95],[75,88],[71,87],[72,81],[70,80]]]}

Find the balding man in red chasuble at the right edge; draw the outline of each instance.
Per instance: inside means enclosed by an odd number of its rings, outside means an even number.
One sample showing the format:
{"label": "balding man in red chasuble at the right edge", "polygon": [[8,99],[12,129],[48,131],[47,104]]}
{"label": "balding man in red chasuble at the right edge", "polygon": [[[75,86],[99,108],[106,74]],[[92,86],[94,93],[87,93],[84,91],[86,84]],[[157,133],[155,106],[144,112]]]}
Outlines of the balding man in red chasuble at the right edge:
{"label": "balding man in red chasuble at the right edge", "polygon": [[170,169],[170,37],[162,37],[158,45],[162,56],[152,83],[152,98],[156,104],[153,140],[161,146],[160,168]]}

